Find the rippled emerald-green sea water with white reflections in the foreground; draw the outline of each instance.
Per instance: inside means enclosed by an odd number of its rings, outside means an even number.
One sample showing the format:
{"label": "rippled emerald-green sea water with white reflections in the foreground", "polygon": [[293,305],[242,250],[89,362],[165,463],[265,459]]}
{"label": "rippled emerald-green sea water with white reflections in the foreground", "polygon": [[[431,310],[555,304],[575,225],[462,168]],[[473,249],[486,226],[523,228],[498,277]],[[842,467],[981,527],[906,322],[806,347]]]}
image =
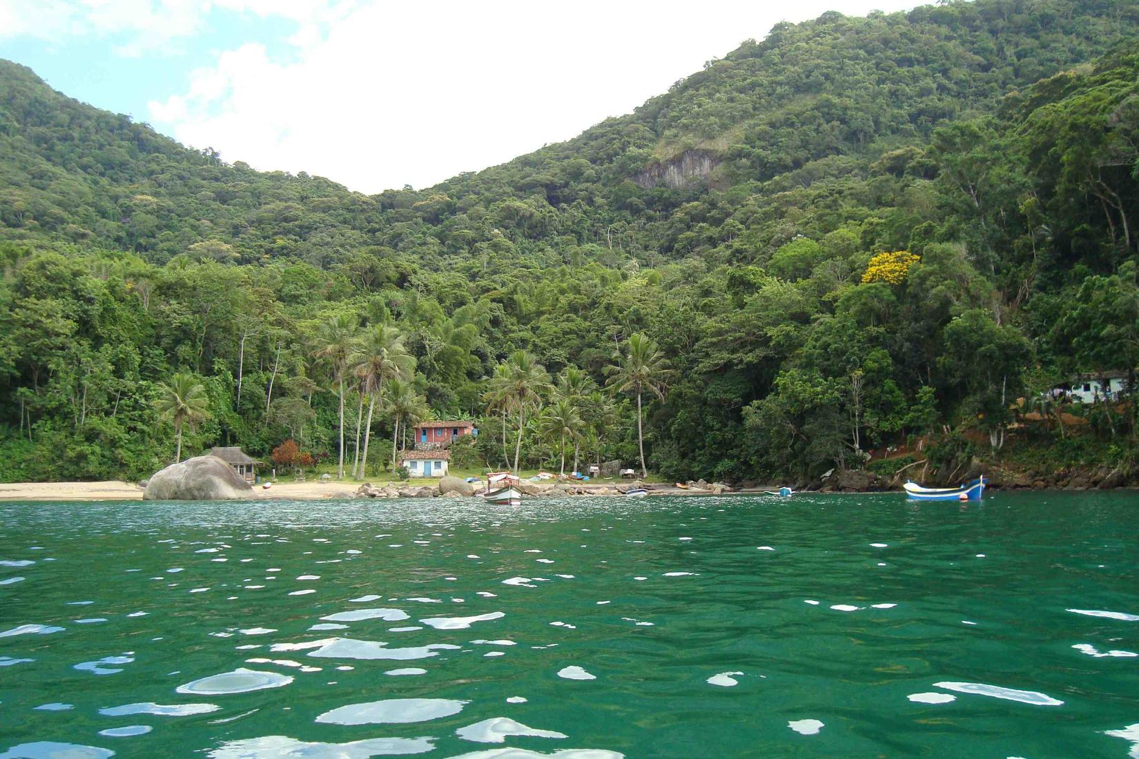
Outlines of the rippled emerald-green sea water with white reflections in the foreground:
{"label": "rippled emerald-green sea water with white reflections in the foreground", "polygon": [[0,504],[0,757],[1139,757],[1139,496]]}

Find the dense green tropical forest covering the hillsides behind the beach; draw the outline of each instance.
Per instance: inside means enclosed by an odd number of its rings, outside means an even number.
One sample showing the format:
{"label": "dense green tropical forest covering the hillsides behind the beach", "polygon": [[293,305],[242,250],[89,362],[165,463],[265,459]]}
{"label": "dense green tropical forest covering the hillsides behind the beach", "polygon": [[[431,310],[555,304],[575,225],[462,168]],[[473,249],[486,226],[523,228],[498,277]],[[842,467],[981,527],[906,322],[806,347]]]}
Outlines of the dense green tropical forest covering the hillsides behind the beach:
{"label": "dense green tropical forest covering the hillsides behind the beach", "polygon": [[780,24],[574,140],[376,196],[0,61],[0,480],[285,440],[376,476],[429,418],[478,421],[470,467],[642,447],[739,481],[920,438],[947,476],[1134,476],[1133,405],[1046,391],[1134,387],[1136,209],[1123,0]]}

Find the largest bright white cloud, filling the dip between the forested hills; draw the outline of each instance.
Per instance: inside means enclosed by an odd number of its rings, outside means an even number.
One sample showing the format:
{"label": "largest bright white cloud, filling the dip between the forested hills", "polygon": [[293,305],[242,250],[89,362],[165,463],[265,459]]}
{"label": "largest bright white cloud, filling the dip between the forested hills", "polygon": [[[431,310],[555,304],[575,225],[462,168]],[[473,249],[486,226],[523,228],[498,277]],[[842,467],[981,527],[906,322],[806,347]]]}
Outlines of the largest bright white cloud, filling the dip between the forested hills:
{"label": "largest bright white cloud, filling the dip between the forested hills", "polygon": [[911,5],[302,2],[290,9],[302,24],[294,60],[274,61],[257,44],[222,52],[187,92],[149,109],[159,127],[227,160],[308,171],[366,192],[425,187],[629,113],[780,20]]}

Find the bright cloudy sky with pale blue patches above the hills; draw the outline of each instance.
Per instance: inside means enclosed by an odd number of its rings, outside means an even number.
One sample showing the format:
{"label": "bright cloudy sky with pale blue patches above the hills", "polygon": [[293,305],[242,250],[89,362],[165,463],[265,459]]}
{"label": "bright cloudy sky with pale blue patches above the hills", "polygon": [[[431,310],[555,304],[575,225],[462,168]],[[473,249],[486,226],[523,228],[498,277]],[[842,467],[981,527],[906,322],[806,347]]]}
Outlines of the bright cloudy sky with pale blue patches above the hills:
{"label": "bright cloudy sky with pale blue patches above the hills", "polygon": [[[0,0],[0,42],[17,50],[0,55],[26,51],[35,67],[36,44],[87,42],[74,49],[145,67],[131,80],[146,113],[133,115],[159,131],[228,162],[377,192],[574,137],[780,20],[915,5]],[[66,91],[60,79],[49,82]]]}

